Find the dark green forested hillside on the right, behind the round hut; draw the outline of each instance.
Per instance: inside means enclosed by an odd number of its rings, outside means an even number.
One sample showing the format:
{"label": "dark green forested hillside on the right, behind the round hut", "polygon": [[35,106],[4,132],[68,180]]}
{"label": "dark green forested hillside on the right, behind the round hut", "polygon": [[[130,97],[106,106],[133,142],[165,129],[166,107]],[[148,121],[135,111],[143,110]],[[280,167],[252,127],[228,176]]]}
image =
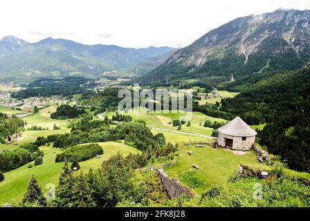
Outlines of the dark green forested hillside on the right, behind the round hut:
{"label": "dark green forested hillside on the right, behind the round hut", "polygon": [[259,143],[281,155],[291,169],[310,171],[310,68],[274,75],[250,75],[227,86],[241,94],[224,99],[220,111],[248,124],[267,123]]}

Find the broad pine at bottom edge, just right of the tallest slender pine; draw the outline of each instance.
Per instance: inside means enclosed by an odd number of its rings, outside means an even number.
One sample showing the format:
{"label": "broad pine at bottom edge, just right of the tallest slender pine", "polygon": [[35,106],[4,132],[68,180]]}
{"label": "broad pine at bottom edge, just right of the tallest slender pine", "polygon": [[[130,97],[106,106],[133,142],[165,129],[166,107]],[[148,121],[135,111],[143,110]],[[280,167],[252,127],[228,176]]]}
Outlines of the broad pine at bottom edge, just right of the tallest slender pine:
{"label": "broad pine at bottom edge, just right of the tallest slender pine", "polygon": [[80,173],[74,178],[74,185],[72,189],[73,197],[71,199],[71,206],[73,207],[93,207],[95,202],[91,198],[91,189],[87,184],[84,175]]}

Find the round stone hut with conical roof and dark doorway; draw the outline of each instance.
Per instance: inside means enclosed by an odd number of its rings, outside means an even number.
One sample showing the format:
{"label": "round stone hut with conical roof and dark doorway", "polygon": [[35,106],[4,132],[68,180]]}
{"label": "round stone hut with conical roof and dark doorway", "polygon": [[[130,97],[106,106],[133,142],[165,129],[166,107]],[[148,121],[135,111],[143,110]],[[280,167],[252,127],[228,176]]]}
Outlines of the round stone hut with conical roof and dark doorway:
{"label": "round stone hut with conical roof and dark doorway", "polygon": [[236,117],[231,122],[218,129],[219,138],[217,140],[219,146],[224,146],[231,150],[248,151],[255,142],[257,135],[246,122],[240,117]]}

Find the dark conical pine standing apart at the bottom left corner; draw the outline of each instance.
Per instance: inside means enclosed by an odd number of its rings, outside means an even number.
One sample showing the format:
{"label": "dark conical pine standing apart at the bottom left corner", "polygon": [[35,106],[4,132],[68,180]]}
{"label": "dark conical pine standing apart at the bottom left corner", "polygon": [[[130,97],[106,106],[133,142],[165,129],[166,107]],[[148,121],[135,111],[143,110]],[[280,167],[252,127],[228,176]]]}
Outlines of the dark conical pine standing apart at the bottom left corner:
{"label": "dark conical pine standing apart at the bottom left corner", "polygon": [[42,189],[33,175],[29,180],[22,204],[35,204],[35,206],[46,206],[47,204],[46,198],[42,193]]}

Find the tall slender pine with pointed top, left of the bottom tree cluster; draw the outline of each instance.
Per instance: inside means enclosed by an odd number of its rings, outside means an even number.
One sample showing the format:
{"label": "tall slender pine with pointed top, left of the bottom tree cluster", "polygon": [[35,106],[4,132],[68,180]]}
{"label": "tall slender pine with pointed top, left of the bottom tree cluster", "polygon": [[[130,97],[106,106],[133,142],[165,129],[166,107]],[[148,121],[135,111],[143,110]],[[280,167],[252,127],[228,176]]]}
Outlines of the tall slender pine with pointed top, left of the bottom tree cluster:
{"label": "tall slender pine with pointed top, left of the bottom tree cluster", "polygon": [[73,197],[72,189],[74,184],[73,172],[69,169],[68,162],[64,162],[64,171],[60,175],[60,181],[55,191],[55,206],[71,206]]}

